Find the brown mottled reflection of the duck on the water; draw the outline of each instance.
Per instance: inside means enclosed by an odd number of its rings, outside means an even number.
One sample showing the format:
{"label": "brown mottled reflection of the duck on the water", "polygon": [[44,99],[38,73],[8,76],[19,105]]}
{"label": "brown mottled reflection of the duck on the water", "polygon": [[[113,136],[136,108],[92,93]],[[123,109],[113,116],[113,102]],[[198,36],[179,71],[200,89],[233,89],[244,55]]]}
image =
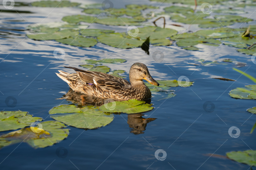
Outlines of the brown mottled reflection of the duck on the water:
{"label": "brown mottled reflection of the duck on the water", "polygon": [[[62,98],[59,99],[66,99],[72,103],[78,104],[78,106],[85,106],[85,105],[95,105],[101,106],[104,105],[106,102],[112,102],[113,100],[109,99],[102,99],[97,98],[94,96],[84,95],[82,93],[74,92],[71,88],[68,93],[64,94]],[[150,103],[151,99],[145,100],[146,103]],[[137,114],[127,114],[128,120],[127,123],[131,128],[131,133],[134,134],[142,134],[146,130],[147,123],[154,121],[156,118],[144,118],[141,113]]]}

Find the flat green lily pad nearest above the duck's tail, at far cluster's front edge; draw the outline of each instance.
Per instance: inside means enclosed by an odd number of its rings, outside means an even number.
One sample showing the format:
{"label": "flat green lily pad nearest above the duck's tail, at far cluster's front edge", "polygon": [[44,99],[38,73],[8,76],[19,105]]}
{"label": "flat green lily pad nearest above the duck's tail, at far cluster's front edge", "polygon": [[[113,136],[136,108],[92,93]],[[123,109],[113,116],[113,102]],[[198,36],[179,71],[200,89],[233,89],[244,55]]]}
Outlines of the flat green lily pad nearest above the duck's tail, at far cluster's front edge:
{"label": "flat green lily pad nearest above the duck's tail, at far cluster's front edge", "polygon": [[78,47],[92,47],[98,43],[97,40],[94,38],[87,38],[87,37],[82,37],[82,36],[78,36],[75,38],[73,38],[73,37],[64,38],[64,39],[60,39],[60,40],[56,40],[56,41],[63,43],[63,44],[68,44],[68,45],[78,46]]}

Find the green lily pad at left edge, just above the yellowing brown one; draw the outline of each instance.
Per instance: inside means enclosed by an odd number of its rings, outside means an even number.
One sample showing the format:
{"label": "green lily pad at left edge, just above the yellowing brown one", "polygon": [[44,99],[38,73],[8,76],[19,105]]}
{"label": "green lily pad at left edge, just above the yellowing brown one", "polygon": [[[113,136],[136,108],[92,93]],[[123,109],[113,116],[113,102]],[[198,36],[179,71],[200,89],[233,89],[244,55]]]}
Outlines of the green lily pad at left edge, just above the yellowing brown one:
{"label": "green lily pad at left edge, just above the yellowing brown one", "polygon": [[30,126],[31,123],[42,121],[40,117],[32,117],[26,111],[1,111],[0,131],[15,130]]}

